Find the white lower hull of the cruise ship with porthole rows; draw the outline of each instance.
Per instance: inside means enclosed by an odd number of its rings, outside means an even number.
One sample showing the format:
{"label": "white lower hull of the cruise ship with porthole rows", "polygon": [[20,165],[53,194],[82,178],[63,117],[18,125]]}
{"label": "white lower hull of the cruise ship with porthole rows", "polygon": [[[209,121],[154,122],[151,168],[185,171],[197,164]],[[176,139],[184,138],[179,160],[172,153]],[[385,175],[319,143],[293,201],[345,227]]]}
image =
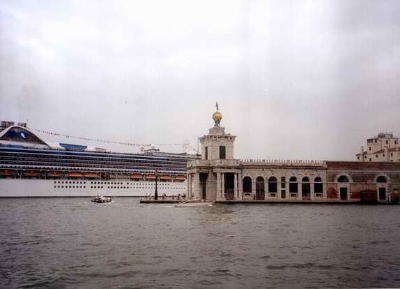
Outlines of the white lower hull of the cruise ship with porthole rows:
{"label": "white lower hull of the cruise ship with porthole rows", "polygon": [[[70,179],[0,179],[1,197],[144,197],[154,195],[155,181],[70,180]],[[186,181],[158,182],[158,195],[183,195]]]}

